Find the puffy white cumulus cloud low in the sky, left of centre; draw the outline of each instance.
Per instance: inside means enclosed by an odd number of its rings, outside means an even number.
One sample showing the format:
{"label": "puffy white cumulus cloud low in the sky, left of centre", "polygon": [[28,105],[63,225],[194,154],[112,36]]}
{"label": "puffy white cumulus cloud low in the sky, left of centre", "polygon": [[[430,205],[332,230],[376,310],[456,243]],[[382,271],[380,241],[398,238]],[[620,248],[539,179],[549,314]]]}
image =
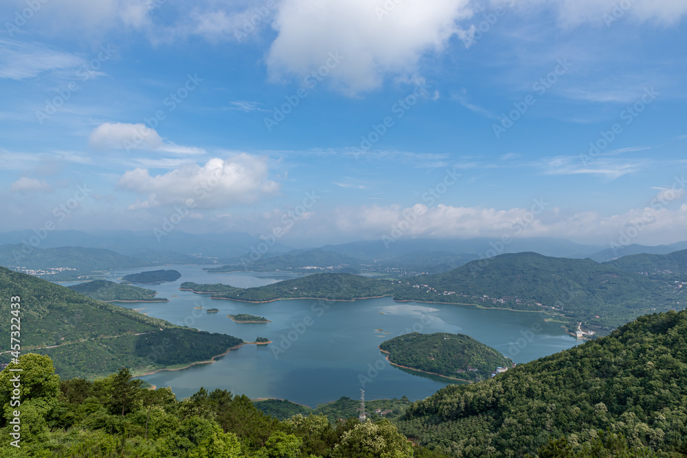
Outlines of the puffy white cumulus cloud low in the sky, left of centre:
{"label": "puffy white cumulus cloud low in the sky, left of centre", "polygon": [[273,195],[279,184],[269,180],[267,160],[238,154],[227,160],[213,158],[202,167],[188,164],[164,175],[151,176],[148,169],[126,171],[117,187],[144,194],[128,209],[161,205],[187,204],[192,199],[198,208],[223,208],[250,204],[265,195]]}

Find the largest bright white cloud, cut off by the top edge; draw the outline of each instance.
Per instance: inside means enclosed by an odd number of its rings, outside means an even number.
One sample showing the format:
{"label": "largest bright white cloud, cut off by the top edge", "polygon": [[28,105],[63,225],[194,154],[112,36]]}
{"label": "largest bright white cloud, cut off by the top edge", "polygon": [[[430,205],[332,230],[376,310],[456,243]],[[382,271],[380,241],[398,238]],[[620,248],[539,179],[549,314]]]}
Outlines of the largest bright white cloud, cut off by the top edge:
{"label": "largest bright white cloud, cut off by the top edge", "polygon": [[[303,78],[343,57],[328,78],[357,95],[381,86],[387,75],[413,75],[429,51],[440,51],[472,15],[470,0],[284,0],[273,22],[278,36],[267,65],[273,80]],[[381,13],[380,13],[381,12]]]}

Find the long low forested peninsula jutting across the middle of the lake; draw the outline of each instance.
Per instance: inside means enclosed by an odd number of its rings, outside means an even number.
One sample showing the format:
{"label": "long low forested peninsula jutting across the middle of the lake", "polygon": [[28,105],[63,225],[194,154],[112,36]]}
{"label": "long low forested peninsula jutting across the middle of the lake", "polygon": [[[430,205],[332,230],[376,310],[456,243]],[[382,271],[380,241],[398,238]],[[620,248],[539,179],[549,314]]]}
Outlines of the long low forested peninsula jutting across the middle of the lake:
{"label": "long low forested peninsula jutting across the middle of the lake", "polygon": [[218,292],[212,297],[251,302],[267,302],[280,298],[321,298],[353,300],[389,296],[394,285],[387,280],[377,280],[353,274],[313,274],[303,278],[284,280],[263,287],[234,288],[225,285],[198,285],[184,282],[181,289],[196,292]]}

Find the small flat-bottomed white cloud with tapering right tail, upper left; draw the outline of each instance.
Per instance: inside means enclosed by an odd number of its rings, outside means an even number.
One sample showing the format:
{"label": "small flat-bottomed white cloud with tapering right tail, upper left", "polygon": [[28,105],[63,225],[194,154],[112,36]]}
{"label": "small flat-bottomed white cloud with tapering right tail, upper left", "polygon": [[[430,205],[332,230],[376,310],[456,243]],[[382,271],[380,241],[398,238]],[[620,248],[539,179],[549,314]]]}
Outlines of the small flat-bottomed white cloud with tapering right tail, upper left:
{"label": "small flat-bottomed white cloud with tapering right tail, upper left", "polygon": [[203,154],[201,148],[164,141],[155,129],[144,123],[102,123],[91,132],[91,146],[102,149],[144,149],[174,154]]}

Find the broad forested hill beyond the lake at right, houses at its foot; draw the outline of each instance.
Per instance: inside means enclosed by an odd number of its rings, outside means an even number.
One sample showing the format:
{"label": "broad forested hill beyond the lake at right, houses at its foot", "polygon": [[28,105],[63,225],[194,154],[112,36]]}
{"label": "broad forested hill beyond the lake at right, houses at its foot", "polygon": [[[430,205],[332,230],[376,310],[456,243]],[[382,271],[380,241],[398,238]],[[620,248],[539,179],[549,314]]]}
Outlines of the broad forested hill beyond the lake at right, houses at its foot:
{"label": "broad forested hill beyond the lake at right, houses at its foot", "polygon": [[615,328],[652,311],[683,309],[687,297],[668,282],[613,265],[537,253],[502,254],[413,281],[428,286],[395,298],[442,302],[467,302],[468,298],[488,307],[548,309],[564,314],[575,325],[587,322],[601,329]]}

